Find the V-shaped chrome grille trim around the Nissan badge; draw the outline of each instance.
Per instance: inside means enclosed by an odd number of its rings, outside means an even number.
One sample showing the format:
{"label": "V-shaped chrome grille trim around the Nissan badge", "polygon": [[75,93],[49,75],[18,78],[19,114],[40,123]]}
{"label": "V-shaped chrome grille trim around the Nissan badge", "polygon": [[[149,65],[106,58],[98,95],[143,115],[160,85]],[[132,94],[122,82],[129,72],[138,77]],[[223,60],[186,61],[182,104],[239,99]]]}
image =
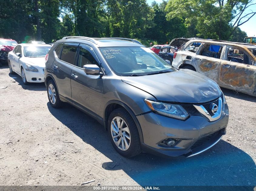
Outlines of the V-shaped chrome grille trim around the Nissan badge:
{"label": "V-shaped chrome grille trim around the Nissan badge", "polygon": [[211,116],[208,111],[204,108],[202,105],[193,105],[208,121],[215,121],[221,117],[221,112],[222,112],[222,99],[219,97],[219,104],[218,104],[218,110],[217,112]]}

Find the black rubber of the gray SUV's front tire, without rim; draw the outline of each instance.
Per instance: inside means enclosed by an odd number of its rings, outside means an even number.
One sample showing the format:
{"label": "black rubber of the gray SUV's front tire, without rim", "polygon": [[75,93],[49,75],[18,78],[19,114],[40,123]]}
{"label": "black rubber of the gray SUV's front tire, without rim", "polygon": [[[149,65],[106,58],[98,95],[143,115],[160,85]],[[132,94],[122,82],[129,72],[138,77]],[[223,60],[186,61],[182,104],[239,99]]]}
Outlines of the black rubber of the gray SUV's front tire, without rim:
{"label": "black rubber of the gray SUV's front tire, without rim", "polygon": [[[130,131],[130,146],[126,151],[123,151],[118,148],[118,146],[115,144],[112,135],[111,135],[111,122],[115,117],[121,117],[125,123],[127,124],[129,131]],[[128,113],[127,110],[124,108],[118,108],[110,114],[108,118],[108,135],[110,138],[110,141],[115,148],[115,150],[121,154],[124,157],[134,157],[141,153],[141,143],[140,143],[140,137],[139,132],[137,129],[137,126],[132,119],[131,115]]]}

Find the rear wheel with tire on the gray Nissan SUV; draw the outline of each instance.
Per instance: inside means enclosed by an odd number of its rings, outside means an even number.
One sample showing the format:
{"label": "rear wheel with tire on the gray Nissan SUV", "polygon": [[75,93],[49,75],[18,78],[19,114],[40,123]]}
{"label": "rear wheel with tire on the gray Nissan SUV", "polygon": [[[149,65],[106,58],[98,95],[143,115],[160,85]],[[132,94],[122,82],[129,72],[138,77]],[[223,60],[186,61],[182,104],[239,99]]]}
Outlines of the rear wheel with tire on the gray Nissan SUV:
{"label": "rear wheel with tire on the gray Nissan SUV", "polygon": [[47,83],[47,95],[48,100],[52,107],[60,108],[62,107],[62,101],[60,100],[59,92],[55,82],[51,79]]}

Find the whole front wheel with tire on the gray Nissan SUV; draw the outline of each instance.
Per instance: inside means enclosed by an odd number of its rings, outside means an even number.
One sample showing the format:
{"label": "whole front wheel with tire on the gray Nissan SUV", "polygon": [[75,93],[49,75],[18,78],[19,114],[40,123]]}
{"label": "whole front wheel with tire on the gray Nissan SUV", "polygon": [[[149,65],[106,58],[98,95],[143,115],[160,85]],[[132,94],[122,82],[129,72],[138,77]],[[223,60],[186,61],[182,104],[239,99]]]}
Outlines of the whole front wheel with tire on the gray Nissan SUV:
{"label": "whole front wheel with tire on the gray Nissan SUV", "polygon": [[110,114],[108,134],[113,147],[122,156],[134,157],[141,153],[137,126],[124,108],[118,108]]}

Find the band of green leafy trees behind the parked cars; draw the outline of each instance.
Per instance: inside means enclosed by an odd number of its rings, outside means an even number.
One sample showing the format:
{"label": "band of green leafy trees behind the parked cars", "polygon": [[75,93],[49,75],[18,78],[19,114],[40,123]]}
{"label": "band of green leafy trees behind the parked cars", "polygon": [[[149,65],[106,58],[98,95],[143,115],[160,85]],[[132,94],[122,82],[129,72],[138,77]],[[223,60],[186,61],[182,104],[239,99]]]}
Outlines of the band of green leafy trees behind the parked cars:
{"label": "band of green leafy trees behind the parked cars", "polygon": [[[0,37],[46,43],[64,36],[136,38],[146,46],[177,37],[243,41],[252,0],[1,1]],[[25,39],[26,37],[26,39]]]}

